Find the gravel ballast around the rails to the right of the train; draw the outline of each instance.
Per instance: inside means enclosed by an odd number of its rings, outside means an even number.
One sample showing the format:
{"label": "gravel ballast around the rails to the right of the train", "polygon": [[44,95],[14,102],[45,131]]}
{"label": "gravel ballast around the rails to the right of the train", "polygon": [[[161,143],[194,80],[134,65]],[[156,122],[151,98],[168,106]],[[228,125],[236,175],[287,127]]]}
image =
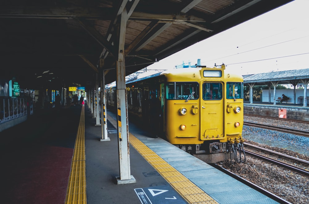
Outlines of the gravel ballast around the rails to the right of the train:
{"label": "gravel ballast around the rails to the right of the train", "polygon": [[[250,116],[244,116],[244,120],[309,131],[309,124]],[[243,138],[246,143],[309,161],[308,137],[244,126]],[[230,161],[223,161],[217,164],[288,202],[309,203],[309,178],[306,176],[248,155],[245,163],[230,165]]]}

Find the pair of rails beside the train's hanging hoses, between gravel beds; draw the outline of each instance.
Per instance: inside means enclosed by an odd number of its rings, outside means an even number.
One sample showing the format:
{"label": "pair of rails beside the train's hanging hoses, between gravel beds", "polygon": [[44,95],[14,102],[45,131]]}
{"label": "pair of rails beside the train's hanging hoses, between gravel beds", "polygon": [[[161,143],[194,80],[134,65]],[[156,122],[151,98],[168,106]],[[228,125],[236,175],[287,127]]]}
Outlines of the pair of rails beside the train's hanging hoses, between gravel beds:
{"label": "pair of rails beside the train's hanging hoses, between gravel beds", "polygon": [[[284,167],[286,169],[295,171],[297,173],[303,174],[307,177],[309,177],[309,170],[306,170],[305,168],[309,169],[309,161],[305,161],[302,159],[298,159],[295,157],[291,157],[289,155],[281,154],[278,152],[274,152],[269,149],[264,149],[255,145],[251,145],[248,143],[243,144],[246,149],[244,149],[246,155],[251,155],[253,157],[257,157],[259,159],[262,159],[264,161],[270,162],[272,164],[279,165],[281,167]],[[250,150],[249,150],[250,149]],[[287,160],[290,162],[284,162],[280,160]],[[292,165],[292,164],[299,164],[299,165]]]}

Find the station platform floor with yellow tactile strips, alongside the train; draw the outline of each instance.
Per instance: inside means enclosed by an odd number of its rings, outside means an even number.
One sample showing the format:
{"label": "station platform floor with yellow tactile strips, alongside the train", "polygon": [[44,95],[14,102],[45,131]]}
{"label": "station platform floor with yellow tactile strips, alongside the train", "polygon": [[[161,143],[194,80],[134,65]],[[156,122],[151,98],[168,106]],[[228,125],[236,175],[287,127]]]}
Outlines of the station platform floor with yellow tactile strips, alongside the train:
{"label": "station platform floor with yellow tactile strips, alongside the train", "polygon": [[117,184],[118,134],[85,106],[42,112],[1,132],[2,203],[278,203],[129,123],[130,172]]}

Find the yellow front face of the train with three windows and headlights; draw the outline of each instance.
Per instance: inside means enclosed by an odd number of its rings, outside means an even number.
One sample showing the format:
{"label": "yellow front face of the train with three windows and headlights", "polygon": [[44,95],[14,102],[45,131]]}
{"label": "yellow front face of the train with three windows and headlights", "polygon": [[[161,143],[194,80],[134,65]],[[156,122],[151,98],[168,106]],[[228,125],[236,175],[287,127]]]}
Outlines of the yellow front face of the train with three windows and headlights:
{"label": "yellow front face of the train with three windows and headlights", "polygon": [[243,78],[222,68],[167,74],[167,140],[190,153],[225,153],[243,142]]}

